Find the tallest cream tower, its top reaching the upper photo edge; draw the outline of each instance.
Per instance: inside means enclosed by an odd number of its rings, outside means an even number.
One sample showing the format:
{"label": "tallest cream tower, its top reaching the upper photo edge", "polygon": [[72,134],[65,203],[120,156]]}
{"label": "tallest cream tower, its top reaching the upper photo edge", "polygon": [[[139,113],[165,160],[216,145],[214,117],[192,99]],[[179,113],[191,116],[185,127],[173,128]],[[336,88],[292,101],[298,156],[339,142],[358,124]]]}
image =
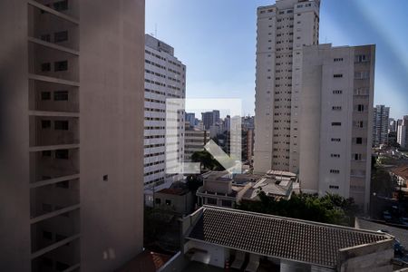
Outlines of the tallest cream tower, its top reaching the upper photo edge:
{"label": "tallest cream tower, its top reaching the upper photo edge", "polygon": [[318,44],[319,0],[257,9],[256,172],[299,168],[302,48]]}

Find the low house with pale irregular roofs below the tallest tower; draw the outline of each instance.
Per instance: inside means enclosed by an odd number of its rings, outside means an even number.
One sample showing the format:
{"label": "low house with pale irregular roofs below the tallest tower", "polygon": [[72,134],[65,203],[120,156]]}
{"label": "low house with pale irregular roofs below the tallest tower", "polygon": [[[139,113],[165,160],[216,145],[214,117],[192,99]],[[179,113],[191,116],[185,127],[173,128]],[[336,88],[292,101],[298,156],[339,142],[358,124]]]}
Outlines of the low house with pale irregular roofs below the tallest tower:
{"label": "low house with pale irregular roofs below the tallest tower", "polygon": [[269,170],[266,174],[231,174],[212,171],[204,174],[203,186],[197,190],[199,206],[213,205],[233,208],[242,200],[257,201],[264,191],[274,199],[290,199],[296,174]]}

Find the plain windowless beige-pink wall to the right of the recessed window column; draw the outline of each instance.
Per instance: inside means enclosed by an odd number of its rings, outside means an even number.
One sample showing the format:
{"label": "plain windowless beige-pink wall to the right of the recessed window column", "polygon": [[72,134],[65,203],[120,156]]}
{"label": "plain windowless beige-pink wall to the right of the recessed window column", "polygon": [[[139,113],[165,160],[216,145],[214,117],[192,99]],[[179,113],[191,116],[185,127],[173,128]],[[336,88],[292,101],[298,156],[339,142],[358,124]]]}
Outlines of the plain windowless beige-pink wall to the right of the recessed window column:
{"label": "plain windowless beige-pink wall to the right of the recessed window column", "polygon": [[144,1],[80,15],[81,270],[112,271],[143,240]]}

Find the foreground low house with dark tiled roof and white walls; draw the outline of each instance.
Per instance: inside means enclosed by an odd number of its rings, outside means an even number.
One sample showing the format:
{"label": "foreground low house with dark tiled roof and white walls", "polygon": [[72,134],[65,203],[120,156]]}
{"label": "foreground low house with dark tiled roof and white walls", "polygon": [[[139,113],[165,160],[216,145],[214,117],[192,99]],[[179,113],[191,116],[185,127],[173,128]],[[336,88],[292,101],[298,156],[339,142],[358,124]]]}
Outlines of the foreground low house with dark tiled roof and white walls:
{"label": "foreground low house with dark tiled roof and white walls", "polygon": [[384,232],[209,206],[181,225],[181,251],[162,272],[393,270]]}

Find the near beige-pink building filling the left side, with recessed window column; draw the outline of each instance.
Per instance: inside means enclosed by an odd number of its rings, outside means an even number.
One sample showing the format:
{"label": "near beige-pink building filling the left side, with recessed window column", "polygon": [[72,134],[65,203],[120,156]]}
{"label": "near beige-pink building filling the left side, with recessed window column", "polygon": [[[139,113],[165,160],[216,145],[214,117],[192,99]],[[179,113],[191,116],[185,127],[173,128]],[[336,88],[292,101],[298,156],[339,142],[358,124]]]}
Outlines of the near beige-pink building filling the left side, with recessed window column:
{"label": "near beige-pink building filling the left side, with recessed window column", "polygon": [[0,2],[0,270],[142,249],[144,1]]}

